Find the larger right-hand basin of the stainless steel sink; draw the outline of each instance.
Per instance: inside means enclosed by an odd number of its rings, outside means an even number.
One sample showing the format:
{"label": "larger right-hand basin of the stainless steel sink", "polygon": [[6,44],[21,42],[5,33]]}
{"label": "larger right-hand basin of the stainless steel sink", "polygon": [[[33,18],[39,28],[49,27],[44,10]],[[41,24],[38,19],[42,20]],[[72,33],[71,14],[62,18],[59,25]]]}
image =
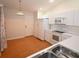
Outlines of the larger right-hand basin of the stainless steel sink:
{"label": "larger right-hand basin of the stainless steel sink", "polygon": [[59,58],[79,58],[78,53],[61,45],[58,45],[51,49],[51,52]]}

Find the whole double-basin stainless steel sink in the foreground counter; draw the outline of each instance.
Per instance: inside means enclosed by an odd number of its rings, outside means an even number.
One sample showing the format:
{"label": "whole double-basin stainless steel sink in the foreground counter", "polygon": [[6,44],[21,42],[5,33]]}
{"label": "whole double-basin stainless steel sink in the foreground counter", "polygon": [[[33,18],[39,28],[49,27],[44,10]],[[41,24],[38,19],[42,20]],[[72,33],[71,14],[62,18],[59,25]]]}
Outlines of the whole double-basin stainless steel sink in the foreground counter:
{"label": "whole double-basin stainless steel sink in the foreground counter", "polygon": [[57,45],[33,58],[79,58],[79,54],[62,45]]}

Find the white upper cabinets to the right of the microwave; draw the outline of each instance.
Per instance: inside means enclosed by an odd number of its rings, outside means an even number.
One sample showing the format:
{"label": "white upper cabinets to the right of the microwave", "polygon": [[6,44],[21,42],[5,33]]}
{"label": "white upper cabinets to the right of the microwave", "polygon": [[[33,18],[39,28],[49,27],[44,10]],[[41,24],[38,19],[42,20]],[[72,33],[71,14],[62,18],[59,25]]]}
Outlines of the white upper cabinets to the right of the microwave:
{"label": "white upper cabinets to the right of the microwave", "polygon": [[66,14],[66,25],[79,26],[79,10],[69,11]]}

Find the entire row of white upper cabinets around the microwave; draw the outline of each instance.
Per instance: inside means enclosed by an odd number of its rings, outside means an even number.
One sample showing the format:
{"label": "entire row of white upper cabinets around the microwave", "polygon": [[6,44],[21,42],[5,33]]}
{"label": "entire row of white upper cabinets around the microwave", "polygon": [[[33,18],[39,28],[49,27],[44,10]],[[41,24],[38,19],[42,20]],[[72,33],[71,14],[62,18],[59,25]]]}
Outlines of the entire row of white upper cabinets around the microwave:
{"label": "entire row of white upper cabinets around the microwave", "polygon": [[79,10],[71,10],[55,14],[52,17],[49,17],[49,24],[55,24],[57,17],[63,18],[61,19],[62,24],[79,26]]}

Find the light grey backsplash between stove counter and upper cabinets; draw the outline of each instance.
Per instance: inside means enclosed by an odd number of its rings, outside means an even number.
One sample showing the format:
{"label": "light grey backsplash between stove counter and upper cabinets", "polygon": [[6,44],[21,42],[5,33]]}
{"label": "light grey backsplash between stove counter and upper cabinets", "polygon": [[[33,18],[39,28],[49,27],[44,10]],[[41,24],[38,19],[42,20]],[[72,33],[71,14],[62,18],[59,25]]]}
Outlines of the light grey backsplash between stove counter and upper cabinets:
{"label": "light grey backsplash between stove counter and upper cabinets", "polygon": [[52,30],[59,30],[66,33],[71,33],[75,35],[79,35],[79,26],[71,26],[71,25],[51,25]]}

